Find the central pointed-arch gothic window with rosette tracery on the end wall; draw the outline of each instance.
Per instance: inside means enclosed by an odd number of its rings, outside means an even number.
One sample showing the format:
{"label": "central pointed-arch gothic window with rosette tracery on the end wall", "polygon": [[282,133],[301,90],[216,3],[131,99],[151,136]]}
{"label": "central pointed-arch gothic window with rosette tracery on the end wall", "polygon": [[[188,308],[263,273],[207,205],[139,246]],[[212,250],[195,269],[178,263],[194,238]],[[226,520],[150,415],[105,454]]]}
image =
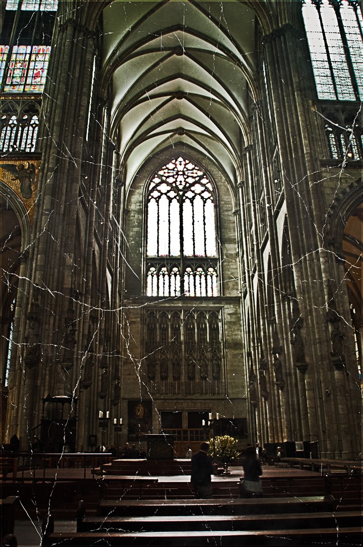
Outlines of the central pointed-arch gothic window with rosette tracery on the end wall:
{"label": "central pointed-arch gothic window with rosette tracery on the end wall", "polygon": [[148,185],[148,296],[217,296],[215,192],[203,171],[172,159]]}

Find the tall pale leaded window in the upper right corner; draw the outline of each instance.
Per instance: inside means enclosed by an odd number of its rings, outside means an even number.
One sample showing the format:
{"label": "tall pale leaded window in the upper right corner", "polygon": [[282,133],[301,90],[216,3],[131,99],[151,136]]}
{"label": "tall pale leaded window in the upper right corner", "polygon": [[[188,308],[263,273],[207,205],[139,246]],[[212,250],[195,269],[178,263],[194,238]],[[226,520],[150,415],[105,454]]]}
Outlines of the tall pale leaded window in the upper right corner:
{"label": "tall pale leaded window in the upper right corner", "polygon": [[356,0],[303,0],[303,19],[320,99],[363,98],[363,18]]}

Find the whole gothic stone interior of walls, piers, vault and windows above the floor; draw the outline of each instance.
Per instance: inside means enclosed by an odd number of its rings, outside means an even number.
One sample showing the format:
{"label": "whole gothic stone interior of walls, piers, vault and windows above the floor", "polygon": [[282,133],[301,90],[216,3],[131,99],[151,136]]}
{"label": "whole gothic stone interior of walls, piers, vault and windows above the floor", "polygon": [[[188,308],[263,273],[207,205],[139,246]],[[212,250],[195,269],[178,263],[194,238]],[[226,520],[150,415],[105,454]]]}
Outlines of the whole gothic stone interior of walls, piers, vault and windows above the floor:
{"label": "whole gothic stone interior of walls, piers, vault and windows above the floor", "polygon": [[359,3],[1,5],[2,443],[360,457]]}

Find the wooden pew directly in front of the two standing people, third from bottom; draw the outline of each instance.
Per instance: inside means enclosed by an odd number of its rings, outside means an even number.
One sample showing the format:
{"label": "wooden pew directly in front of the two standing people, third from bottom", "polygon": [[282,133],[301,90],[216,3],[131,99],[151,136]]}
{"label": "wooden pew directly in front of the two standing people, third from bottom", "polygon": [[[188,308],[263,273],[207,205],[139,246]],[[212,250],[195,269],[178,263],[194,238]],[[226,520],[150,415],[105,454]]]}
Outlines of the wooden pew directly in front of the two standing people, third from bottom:
{"label": "wooden pew directly in front of the two standing people, third from bottom", "polygon": [[335,504],[323,496],[300,498],[253,499],[103,499],[98,505],[98,515],[152,516],[157,515],[233,515],[265,513],[299,513],[329,511]]}

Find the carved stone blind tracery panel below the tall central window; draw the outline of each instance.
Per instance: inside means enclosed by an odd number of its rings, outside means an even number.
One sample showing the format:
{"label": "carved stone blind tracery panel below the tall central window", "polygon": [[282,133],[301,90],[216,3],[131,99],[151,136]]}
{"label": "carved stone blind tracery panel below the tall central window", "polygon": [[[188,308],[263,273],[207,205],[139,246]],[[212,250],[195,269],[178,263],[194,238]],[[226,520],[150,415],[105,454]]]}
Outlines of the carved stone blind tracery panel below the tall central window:
{"label": "carved stone blind tracery panel below the tall central window", "polygon": [[145,393],[213,395],[223,391],[219,310],[149,310],[144,348]]}

